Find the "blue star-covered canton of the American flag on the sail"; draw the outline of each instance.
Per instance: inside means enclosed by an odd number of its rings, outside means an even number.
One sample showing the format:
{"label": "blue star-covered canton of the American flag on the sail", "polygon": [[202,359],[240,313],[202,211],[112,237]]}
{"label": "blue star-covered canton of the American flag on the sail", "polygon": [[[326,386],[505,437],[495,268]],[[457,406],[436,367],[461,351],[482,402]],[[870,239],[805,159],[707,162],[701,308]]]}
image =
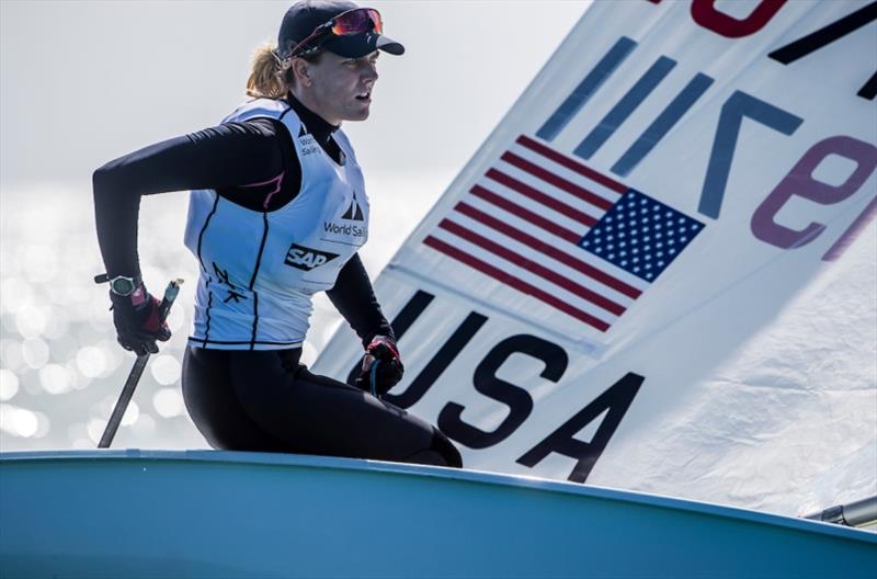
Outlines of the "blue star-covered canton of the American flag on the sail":
{"label": "blue star-covered canton of the American flag on the sail", "polygon": [[653,282],[703,228],[697,219],[628,189],[579,245],[616,268]]}

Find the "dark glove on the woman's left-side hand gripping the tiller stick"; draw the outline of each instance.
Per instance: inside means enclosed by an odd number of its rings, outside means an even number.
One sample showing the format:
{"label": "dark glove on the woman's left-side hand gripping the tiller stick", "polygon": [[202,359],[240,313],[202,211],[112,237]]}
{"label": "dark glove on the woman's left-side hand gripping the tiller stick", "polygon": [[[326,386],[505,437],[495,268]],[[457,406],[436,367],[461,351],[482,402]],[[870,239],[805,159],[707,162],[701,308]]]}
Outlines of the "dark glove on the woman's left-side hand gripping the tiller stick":
{"label": "dark glove on the woman's left-side hand gripping the tiller stick", "polygon": [[170,340],[171,330],[161,319],[159,300],[146,291],[143,282],[126,296],[111,291],[110,299],[113,302],[116,339],[122,348],[141,356],[158,352],[156,340]]}

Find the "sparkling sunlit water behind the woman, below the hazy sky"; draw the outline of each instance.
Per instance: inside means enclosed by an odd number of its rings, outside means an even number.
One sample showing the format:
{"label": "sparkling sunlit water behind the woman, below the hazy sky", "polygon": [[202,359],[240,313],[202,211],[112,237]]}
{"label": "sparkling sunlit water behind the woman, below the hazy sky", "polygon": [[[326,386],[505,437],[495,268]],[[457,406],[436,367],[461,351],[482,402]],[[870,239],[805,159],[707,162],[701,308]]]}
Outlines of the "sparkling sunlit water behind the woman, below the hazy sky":
{"label": "sparkling sunlit water behind the woman, below the hazy sky", "polygon": [[[398,189],[399,200],[410,200],[410,183]],[[433,189],[441,191],[438,184]],[[4,186],[2,198],[0,449],[94,449],[134,355],[115,341],[106,286],[93,283],[102,263],[91,191]],[[423,201],[420,211],[430,203]],[[134,395],[137,410],[126,415],[114,447],[206,446],[186,416],[180,391],[197,279],[196,262],[182,243],[185,214],[184,195],[150,195],[141,202],[138,250],[147,286],[160,293],[172,277],[187,283],[168,319],[173,337],[150,360]],[[406,215],[410,229],[418,218]],[[388,222],[374,238],[387,240],[389,258],[407,232]],[[369,271],[379,269],[373,263],[374,252],[364,259]],[[316,360],[340,323],[329,300],[318,296],[303,360]]]}

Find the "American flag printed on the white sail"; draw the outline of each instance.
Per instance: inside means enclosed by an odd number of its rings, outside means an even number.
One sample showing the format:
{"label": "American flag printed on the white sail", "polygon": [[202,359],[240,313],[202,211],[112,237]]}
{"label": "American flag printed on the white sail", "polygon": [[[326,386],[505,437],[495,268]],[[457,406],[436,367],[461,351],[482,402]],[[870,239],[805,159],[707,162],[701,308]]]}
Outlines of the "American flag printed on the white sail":
{"label": "American flag printed on the white sail", "polygon": [[423,242],[605,332],[703,228],[522,135]]}

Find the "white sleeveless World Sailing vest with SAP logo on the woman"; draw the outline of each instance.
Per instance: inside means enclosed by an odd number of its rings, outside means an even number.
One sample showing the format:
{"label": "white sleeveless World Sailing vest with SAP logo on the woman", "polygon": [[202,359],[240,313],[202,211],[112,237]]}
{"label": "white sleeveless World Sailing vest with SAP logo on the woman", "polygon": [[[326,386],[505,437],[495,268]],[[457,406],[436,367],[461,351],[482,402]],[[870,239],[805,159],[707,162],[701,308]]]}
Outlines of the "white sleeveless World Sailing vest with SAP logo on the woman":
{"label": "white sleeveless World Sailing vest with SAP logo on the woman", "polygon": [[[273,212],[244,208],[215,190],[192,191],[185,245],[201,263],[191,345],[276,350],[305,340],[316,292],[330,290],[368,238],[368,197],[346,136],[338,164],[283,101],[259,99],[223,122],[280,120],[301,164],[301,189]],[[276,183],[280,190],[280,179]],[[270,196],[270,194],[269,194]]]}

